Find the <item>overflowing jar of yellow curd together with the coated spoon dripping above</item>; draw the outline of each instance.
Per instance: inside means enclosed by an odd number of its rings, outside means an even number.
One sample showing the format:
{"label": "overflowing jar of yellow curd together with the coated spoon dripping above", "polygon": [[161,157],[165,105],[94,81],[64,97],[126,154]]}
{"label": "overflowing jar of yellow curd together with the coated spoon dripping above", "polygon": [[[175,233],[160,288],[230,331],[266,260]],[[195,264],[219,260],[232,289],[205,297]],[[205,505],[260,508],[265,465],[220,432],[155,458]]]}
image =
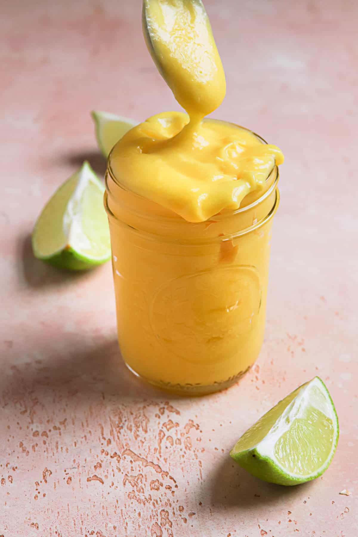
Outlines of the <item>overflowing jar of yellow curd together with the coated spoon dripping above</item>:
{"label": "overflowing jar of yellow curd together with the coated spoon dripping above", "polygon": [[235,383],[265,329],[279,148],[228,122],[225,77],[199,0],[144,0],[152,45],[181,112],[131,129],[108,158],[121,353],[177,393]]}

